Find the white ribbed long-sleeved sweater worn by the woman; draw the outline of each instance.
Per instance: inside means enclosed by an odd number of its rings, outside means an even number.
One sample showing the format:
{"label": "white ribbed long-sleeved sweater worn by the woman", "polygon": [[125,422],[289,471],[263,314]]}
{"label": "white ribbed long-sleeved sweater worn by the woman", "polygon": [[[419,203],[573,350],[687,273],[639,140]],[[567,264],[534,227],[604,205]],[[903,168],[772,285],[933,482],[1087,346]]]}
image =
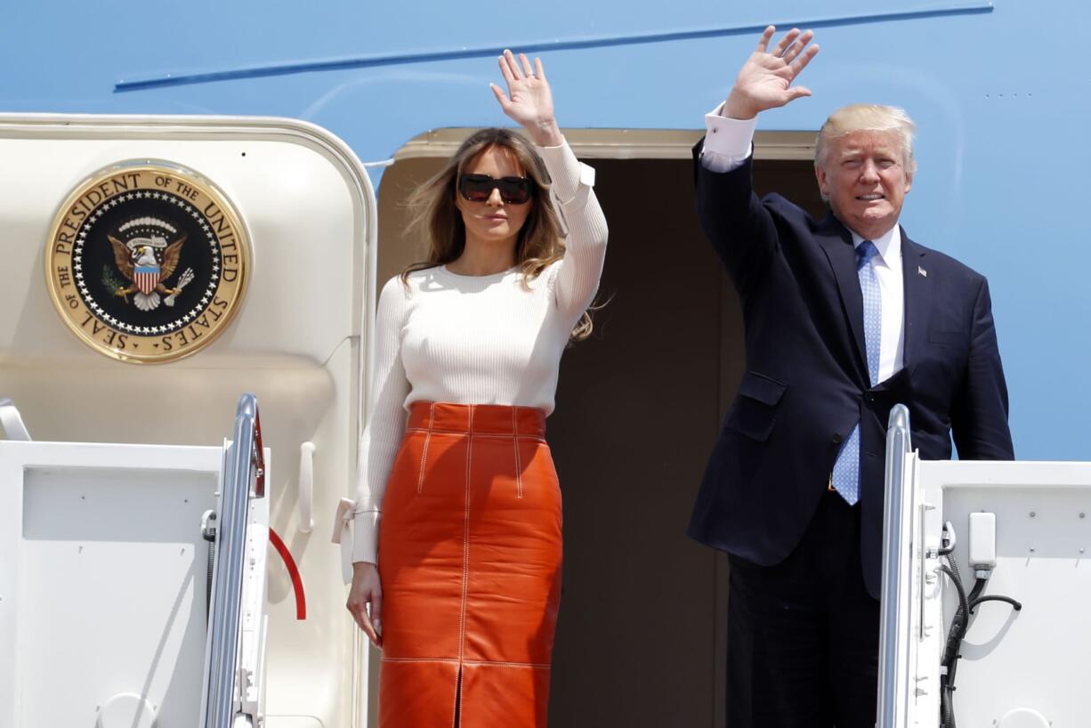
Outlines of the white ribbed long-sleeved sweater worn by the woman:
{"label": "white ribbed long-sleeved sweater worn by the woman", "polygon": [[417,271],[388,281],[379,298],[375,362],[360,439],[352,561],[376,562],[386,480],[413,402],[539,407],[550,414],[561,354],[598,290],[607,224],[567,143],[538,147],[568,229],[564,258],[536,279],[517,270],[457,275]]}

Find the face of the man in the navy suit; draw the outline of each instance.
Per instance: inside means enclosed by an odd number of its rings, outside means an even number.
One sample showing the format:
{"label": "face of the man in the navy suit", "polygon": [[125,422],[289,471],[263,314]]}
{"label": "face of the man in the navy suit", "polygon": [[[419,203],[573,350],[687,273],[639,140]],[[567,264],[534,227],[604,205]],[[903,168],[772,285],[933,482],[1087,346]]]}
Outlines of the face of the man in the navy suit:
{"label": "face of the man in the navy suit", "polygon": [[904,165],[898,132],[853,131],[830,142],[815,176],[837,218],[874,240],[898,223],[913,181]]}

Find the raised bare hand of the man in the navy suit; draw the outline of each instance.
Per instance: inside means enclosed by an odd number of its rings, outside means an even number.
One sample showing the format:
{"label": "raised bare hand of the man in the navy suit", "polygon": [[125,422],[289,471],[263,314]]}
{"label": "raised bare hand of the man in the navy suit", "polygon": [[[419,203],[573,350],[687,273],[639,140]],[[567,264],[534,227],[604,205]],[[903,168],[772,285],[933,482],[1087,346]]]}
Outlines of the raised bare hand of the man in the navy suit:
{"label": "raised bare hand of the man in the navy suit", "polygon": [[792,28],[784,34],[772,50],[767,50],[774,26],[765,28],[762,39],[735,79],[728,95],[723,115],[732,119],[752,119],[766,109],[783,106],[801,96],[810,96],[806,86],[793,86],[811,59],[818,52],[817,45],[807,45],[814,33]]}

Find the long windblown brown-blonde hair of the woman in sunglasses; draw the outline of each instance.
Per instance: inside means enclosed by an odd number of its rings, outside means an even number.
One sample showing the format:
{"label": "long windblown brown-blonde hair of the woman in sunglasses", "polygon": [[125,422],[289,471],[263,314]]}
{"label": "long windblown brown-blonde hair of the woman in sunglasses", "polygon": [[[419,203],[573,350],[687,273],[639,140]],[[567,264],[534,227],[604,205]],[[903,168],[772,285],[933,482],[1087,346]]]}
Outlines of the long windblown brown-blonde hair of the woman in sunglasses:
{"label": "long windblown brown-blonde hair of the woman in sunglasses", "polygon": [[[466,249],[466,225],[456,199],[458,177],[479,154],[490,148],[511,153],[530,179],[530,211],[515,241],[515,261],[524,276],[524,285],[564,256],[564,234],[553,202],[550,200],[550,178],[546,163],[523,136],[507,129],[482,129],[463,142],[454,156],[435,176],[409,195],[409,231],[420,231],[428,240],[427,260],[412,263],[401,272],[408,285],[415,271],[454,262]],[[584,312],[572,330],[572,341],[579,342],[591,333],[591,317]]]}

